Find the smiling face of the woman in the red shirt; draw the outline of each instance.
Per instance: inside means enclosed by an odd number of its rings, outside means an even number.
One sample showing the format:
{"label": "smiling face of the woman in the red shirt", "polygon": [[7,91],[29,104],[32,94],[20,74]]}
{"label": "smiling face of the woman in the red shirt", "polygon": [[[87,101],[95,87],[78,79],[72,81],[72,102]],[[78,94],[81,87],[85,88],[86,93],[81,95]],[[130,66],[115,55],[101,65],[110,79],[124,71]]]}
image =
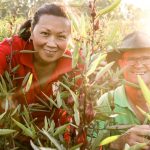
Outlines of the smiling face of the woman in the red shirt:
{"label": "smiling face of the woman in the red shirt", "polygon": [[51,63],[62,57],[71,33],[68,19],[53,15],[42,15],[35,25],[31,39],[33,40],[35,61]]}

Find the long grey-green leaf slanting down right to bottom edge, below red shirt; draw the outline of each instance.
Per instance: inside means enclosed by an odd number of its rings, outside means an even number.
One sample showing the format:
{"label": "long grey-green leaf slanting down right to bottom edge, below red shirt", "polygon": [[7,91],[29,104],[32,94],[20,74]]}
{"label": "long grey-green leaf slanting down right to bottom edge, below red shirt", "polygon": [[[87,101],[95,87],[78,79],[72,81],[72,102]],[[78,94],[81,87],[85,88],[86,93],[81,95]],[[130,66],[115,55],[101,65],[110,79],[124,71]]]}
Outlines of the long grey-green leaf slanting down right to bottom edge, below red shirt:
{"label": "long grey-green leaf slanting down right to bottom edge, below red shirt", "polygon": [[56,148],[57,148],[58,150],[62,150],[62,146],[60,145],[60,143],[59,143],[54,137],[52,137],[52,136],[51,136],[48,132],[46,132],[45,130],[43,130],[42,133],[43,133],[44,135],[46,135],[46,136],[49,138],[49,140],[56,146]]}

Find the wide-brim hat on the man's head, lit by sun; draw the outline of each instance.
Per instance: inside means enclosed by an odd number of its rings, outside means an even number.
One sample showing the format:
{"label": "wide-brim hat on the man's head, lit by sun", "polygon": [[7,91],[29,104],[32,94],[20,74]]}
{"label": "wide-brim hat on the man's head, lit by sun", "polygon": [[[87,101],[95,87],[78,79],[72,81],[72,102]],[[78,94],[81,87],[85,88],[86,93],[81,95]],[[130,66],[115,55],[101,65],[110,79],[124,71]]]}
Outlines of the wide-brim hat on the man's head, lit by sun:
{"label": "wide-brim hat on the man's head, lit by sun", "polygon": [[123,52],[138,49],[150,49],[150,35],[143,31],[134,31],[125,36],[118,48],[107,53],[107,62],[117,62]]}

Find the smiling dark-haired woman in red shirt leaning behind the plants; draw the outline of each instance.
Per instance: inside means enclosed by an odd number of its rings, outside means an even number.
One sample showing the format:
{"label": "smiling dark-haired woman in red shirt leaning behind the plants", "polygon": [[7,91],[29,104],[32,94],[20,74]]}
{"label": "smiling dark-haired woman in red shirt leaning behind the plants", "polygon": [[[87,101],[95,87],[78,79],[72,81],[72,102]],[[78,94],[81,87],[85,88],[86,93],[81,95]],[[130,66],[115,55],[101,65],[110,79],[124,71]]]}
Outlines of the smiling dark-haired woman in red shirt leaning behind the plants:
{"label": "smiling dark-haired woman in red shirt leaning behind the plants", "polygon": [[[70,34],[71,24],[62,7],[45,4],[37,10],[32,21],[21,26],[19,36],[15,35],[0,43],[1,74],[5,70],[12,73],[12,68],[19,64],[18,70],[12,74],[17,78],[17,87],[22,85],[28,73],[33,74],[32,85],[25,93],[25,98],[19,91],[13,97],[17,103],[40,103],[41,100],[47,101],[47,96],[53,96],[52,84],[72,71],[71,58],[63,57],[64,53],[70,55],[66,50]],[[23,50],[30,50],[30,53],[22,53]],[[33,112],[32,117],[37,118],[35,123],[39,127],[43,127],[44,117],[51,116],[52,112],[56,126],[71,120],[64,110],[56,108]]]}

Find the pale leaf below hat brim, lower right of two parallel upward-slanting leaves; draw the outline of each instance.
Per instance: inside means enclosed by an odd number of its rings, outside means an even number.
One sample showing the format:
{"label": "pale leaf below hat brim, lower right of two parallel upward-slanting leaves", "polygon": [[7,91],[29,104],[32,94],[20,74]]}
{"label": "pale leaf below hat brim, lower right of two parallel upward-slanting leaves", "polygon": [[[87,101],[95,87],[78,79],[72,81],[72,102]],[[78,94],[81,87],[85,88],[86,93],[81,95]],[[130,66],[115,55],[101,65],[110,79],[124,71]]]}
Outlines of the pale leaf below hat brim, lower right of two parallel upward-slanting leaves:
{"label": "pale leaf below hat brim, lower right of two parallel upward-slanting leaves", "polygon": [[97,73],[96,77],[95,77],[95,81],[97,81],[98,79],[100,79],[104,73],[106,73],[114,64],[115,62],[111,62],[109,64],[107,64],[105,67],[101,68],[101,70]]}

